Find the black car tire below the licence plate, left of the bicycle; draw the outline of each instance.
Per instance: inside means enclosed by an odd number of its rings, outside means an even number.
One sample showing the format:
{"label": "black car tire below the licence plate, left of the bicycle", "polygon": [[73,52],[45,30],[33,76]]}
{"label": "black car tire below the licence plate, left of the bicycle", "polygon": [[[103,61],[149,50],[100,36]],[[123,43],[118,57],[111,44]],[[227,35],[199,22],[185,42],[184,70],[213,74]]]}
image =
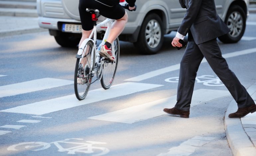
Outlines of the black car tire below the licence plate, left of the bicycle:
{"label": "black car tire below the licence plate, left of the bicycle", "polygon": [[56,42],[63,47],[76,47],[79,44],[80,38],[69,36],[65,33],[61,33],[54,37]]}

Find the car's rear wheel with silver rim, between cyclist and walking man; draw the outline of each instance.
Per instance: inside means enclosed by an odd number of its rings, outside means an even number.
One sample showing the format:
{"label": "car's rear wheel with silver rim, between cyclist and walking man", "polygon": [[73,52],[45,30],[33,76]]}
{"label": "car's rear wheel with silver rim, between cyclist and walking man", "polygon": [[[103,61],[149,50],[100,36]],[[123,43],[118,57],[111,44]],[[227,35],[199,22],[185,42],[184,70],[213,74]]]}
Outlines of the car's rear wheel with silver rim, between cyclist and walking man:
{"label": "car's rear wheel with silver rim, between cyclist and walking man", "polygon": [[144,19],[138,40],[134,45],[141,54],[156,54],[163,45],[163,39],[163,22],[157,14],[151,13]]}

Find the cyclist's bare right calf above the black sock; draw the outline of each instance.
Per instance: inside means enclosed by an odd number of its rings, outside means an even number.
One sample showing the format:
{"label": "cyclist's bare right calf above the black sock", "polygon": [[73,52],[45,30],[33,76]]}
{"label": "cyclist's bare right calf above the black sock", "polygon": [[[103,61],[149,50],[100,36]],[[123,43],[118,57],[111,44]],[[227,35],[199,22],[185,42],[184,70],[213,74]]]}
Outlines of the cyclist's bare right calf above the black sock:
{"label": "cyclist's bare right calf above the black sock", "polygon": [[124,16],[121,19],[115,21],[106,41],[109,43],[112,43],[122,33],[127,21],[128,21],[128,15],[125,12]]}

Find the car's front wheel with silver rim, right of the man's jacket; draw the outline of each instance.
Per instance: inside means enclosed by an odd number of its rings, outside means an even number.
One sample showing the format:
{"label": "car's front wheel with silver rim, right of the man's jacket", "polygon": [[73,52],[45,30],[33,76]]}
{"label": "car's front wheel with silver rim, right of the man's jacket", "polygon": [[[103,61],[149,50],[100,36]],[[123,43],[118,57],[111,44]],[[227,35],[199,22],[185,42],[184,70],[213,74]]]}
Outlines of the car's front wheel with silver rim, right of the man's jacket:
{"label": "car's front wheel with silver rim, right of the man's jacket", "polygon": [[246,27],[246,15],[243,9],[238,5],[231,6],[227,12],[225,24],[231,32],[219,37],[219,40],[223,43],[238,42],[243,37]]}

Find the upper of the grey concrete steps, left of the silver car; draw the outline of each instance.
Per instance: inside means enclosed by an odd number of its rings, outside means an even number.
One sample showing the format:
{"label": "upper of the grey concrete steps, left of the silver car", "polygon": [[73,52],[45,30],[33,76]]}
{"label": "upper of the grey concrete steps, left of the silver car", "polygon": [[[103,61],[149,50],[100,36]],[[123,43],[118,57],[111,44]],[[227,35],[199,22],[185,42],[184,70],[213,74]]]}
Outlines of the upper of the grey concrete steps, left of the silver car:
{"label": "upper of the grey concrete steps, left of the silver car", "polygon": [[0,0],[0,8],[26,8],[36,9],[36,2],[25,2],[25,1],[4,1]]}

